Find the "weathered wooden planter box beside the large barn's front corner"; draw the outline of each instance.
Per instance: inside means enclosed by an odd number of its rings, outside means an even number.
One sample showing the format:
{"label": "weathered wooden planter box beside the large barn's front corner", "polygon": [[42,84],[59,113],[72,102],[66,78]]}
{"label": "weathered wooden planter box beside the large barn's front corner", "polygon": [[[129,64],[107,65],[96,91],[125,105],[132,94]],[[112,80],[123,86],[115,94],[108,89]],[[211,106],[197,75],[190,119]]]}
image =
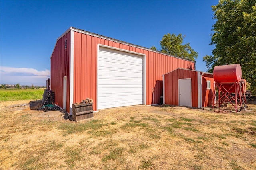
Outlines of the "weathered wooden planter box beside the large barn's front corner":
{"label": "weathered wooden planter box beside the large barn's front corner", "polygon": [[80,121],[93,117],[92,104],[75,103],[72,104],[72,119],[73,121]]}

